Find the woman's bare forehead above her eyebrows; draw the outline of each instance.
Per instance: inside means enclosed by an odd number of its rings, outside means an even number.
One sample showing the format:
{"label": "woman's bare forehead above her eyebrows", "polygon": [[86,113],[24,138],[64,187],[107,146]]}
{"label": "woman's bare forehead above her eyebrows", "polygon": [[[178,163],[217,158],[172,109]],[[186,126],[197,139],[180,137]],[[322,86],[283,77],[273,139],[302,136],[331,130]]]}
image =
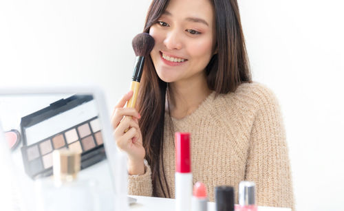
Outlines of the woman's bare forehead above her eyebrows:
{"label": "woman's bare forehead above her eyebrows", "polygon": [[210,0],[171,0],[166,12],[175,19],[195,17],[206,20],[210,25],[213,24],[214,8]]}

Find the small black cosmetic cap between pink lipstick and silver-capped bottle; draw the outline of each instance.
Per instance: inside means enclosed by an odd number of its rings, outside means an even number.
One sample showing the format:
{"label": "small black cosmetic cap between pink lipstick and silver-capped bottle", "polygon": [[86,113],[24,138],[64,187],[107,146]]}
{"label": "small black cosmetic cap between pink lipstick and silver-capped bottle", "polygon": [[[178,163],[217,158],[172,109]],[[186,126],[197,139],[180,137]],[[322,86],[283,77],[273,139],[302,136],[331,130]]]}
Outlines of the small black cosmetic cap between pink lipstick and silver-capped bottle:
{"label": "small black cosmetic cap between pink lipstick and silver-capped bottle", "polygon": [[216,211],[234,211],[234,188],[232,186],[215,187]]}

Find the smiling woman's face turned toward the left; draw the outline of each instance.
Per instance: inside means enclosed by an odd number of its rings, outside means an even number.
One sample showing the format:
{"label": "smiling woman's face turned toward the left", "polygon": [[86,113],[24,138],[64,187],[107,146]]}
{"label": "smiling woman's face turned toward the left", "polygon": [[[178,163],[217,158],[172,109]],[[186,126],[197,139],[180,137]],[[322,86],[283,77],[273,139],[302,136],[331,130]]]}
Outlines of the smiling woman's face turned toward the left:
{"label": "smiling woman's face turned toward the left", "polygon": [[215,48],[214,9],[209,0],[171,0],[149,34],[151,58],[165,82],[204,77]]}

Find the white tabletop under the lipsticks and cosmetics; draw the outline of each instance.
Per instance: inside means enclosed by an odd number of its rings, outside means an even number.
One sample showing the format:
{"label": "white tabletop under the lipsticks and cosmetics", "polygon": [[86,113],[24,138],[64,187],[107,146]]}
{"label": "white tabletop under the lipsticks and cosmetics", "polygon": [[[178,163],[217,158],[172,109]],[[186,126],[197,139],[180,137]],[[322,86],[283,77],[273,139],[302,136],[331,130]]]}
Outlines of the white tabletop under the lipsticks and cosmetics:
{"label": "white tabletop under the lipsticks and cosmetics", "polygon": [[[165,199],[158,197],[141,197],[130,196],[138,201],[130,206],[130,211],[174,211],[175,199]],[[258,207],[259,211],[291,211],[290,208],[271,208],[271,207]],[[208,202],[208,211],[215,211],[215,203]]]}

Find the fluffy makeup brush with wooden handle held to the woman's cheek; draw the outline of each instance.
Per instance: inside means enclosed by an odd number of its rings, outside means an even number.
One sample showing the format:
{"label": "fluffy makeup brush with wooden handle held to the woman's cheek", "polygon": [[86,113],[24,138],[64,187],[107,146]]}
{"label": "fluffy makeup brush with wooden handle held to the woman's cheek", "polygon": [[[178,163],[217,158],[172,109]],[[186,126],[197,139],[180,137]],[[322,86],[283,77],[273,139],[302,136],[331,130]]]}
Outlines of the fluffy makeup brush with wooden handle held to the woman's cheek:
{"label": "fluffy makeup brush with wooden handle held to the woman's cheek", "polygon": [[[133,51],[136,54],[136,63],[133,68],[133,81],[131,81],[130,89],[133,90],[133,96],[127,103],[128,108],[134,108],[138,98],[140,89],[140,80],[143,71],[144,58],[149,56],[155,45],[154,38],[148,33],[141,33],[133,38]],[[127,132],[128,129],[125,131]]]}

